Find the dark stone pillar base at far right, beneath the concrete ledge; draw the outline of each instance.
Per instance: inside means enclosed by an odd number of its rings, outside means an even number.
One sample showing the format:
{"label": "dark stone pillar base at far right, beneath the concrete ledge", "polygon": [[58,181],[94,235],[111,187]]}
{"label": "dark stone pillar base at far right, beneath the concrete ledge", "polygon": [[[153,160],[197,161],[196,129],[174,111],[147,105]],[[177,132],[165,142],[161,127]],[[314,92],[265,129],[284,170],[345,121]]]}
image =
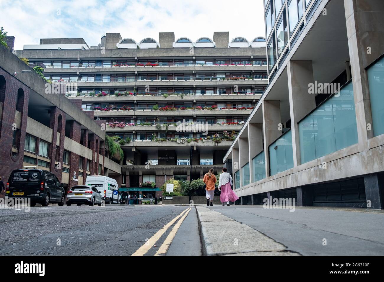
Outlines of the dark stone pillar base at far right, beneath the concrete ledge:
{"label": "dark stone pillar base at far right, beneath the concrete ledge", "polygon": [[383,179],[378,173],[364,175],[365,197],[371,202],[367,208],[382,209],[383,203]]}

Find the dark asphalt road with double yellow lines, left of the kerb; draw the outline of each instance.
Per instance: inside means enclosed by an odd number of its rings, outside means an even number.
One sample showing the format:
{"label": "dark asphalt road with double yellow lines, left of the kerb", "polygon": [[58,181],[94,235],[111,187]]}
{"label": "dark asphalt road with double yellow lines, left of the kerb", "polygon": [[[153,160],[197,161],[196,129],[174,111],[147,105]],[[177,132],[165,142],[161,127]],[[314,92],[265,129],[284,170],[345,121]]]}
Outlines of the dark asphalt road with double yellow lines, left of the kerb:
{"label": "dark asphalt road with double yellow lines, left of the kerb", "polygon": [[189,206],[1,209],[0,230],[0,255],[201,255]]}

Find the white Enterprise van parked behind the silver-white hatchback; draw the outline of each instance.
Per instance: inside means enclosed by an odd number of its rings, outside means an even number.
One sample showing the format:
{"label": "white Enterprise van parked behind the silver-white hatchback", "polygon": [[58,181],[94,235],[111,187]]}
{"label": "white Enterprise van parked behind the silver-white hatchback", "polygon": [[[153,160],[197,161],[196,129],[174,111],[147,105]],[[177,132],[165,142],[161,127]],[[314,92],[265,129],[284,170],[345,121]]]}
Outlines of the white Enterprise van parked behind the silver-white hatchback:
{"label": "white Enterprise van parked behind the silver-white hatchback", "polygon": [[[107,176],[102,175],[90,175],[87,176],[85,180],[85,185],[88,186],[94,186],[99,192],[101,192],[101,195],[103,196],[103,200],[105,203],[120,203],[121,202],[121,195],[119,191],[119,185],[113,178],[109,178]],[[118,195],[112,195],[113,190],[118,190]]]}

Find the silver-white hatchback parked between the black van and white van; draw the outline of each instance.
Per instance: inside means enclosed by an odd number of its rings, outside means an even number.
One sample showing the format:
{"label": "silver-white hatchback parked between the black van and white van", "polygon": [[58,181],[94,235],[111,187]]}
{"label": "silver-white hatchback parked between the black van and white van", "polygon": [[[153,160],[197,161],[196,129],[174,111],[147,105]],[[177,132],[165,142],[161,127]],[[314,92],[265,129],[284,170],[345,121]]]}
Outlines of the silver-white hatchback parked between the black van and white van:
{"label": "silver-white hatchback parked between the black van and white van", "polygon": [[102,201],[101,193],[94,186],[73,186],[67,193],[67,206],[71,204],[77,204],[78,206],[82,204],[89,204],[89,206],[98,204],[101,206]]}

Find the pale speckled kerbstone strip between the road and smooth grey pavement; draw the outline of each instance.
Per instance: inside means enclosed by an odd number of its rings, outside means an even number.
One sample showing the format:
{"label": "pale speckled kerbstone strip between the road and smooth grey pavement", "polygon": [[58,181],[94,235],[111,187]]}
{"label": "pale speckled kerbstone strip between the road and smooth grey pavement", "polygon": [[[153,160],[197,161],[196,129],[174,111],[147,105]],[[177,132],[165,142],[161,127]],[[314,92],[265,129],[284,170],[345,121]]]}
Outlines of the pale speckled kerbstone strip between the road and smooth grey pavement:
{"label": "pale speckled kerbstone strip between the road and smooth grey pavement", "polygon": [[196,206],[203,255],[298,255],[268,236],[208,207]]}

